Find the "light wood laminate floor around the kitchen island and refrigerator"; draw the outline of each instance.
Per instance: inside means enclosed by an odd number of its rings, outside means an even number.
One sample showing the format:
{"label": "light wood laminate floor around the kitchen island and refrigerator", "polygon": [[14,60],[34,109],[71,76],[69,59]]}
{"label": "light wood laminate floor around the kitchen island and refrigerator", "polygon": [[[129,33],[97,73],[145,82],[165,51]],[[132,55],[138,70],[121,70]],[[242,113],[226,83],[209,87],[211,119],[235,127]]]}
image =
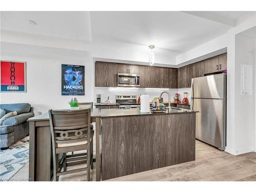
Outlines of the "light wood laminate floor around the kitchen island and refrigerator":
{"label": "light wood laminate floor around the kitchen island and refrigerator", "polygon": [[[13,178],[28,177],[25,165]],[[60,181],[85,181],[86,172],[59,177]],[[91,170],[95,181],[95,164]],[[149,170],[109,181],[256,181],[256,153],[233,156],[196,141],[196,160]]]}

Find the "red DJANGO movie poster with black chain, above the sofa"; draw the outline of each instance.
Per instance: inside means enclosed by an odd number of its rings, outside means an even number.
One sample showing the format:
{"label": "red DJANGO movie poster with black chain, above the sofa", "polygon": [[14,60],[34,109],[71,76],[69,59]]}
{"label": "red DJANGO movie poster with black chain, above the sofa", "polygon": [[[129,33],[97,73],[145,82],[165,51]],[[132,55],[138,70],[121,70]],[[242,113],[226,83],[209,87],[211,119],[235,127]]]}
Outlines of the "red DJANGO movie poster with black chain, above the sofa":
{"label": "red DJANGO movie poster with black chain, above the sofa", "polygon": [[26,62],[1,61],[1,92],[26,92]]}

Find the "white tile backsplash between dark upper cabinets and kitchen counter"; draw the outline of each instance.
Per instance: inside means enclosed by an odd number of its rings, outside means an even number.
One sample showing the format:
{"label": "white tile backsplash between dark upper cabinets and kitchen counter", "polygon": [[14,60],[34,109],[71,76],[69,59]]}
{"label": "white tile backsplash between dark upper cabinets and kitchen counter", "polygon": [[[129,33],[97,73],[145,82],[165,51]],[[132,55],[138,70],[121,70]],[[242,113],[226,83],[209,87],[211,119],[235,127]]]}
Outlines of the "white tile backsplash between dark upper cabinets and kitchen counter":
{"label": "white tile backsplash between dark upper cabinets and kitchen counter", "polygon": [[[168,91],[170,93],[170,101],[174,101],[175,93],[180,94],[180,100],[183,99],[183,93],[188,93],[188,100],[190,102],[190,88],[184,89],[148,89],[148,88],[104,88],[104,87],[95,87],[94,88],[94,103],[96,103],[96,94],[101,94],[101,102],[109,100],[110,102],[116,102],[116,95],[139,95],[147,94],[153,99],[154,97],[159,97],[162,91]],[[164,101],[168,101],[168,95],[162,95]]]}

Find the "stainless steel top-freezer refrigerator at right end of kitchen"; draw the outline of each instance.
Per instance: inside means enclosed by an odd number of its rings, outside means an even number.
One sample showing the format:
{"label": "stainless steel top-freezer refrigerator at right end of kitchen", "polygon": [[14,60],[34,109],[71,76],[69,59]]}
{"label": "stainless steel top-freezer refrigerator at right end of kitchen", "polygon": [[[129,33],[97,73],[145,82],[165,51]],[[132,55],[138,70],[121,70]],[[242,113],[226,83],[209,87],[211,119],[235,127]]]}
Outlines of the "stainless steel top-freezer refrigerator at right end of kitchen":
{"label": "stainless steel top-freezer refrigerator at right end of kitchen", "polygon": [[191,109],[196,114],[196,138],[225,150],[226,74],[193,78]]}

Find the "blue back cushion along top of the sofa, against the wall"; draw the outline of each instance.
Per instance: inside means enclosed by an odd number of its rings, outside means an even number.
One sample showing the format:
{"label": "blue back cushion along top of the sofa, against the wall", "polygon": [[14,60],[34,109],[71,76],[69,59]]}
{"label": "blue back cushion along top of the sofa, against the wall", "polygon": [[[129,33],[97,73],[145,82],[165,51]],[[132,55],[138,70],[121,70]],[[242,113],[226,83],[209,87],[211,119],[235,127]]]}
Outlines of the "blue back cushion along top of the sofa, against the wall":
{"label": "blue back cushion along top of the sofa, against the wall", "polygon": [[0,104],[0,109],[5,110],[6,113],[16,111],[18,114],[30,112],[31,105],[29,103],[12,103]]}

